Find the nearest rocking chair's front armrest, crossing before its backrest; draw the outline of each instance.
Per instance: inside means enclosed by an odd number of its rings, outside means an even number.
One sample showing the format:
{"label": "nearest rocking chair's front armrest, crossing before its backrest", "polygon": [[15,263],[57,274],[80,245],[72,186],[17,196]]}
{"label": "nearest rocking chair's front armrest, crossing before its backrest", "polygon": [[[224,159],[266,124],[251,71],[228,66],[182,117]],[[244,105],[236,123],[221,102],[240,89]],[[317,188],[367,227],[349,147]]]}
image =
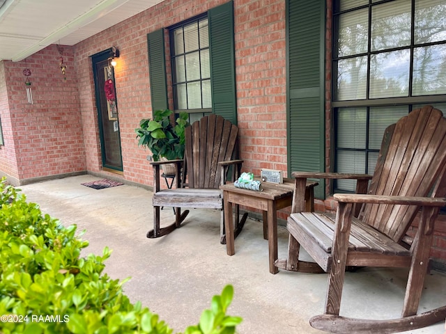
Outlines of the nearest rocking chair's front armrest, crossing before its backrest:
{"label": "nearest rocking chair's front armrest, crossing before its backrest", "polygon": [[379,196],[356,193],[335,193],[333,198],[338,202],[418,205],[421,207],[444,207],[446,198],[409,197],[409,196]]}

